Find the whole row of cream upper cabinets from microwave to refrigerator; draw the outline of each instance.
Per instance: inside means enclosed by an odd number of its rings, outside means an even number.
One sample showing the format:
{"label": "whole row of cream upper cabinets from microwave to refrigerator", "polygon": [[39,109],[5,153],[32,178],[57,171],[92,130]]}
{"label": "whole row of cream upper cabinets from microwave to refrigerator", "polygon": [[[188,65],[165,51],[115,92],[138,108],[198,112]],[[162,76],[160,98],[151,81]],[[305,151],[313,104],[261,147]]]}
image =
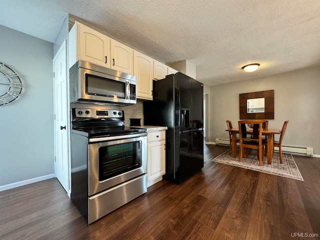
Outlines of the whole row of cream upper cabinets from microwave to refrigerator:
{"label": "whole row of cream upper cabinets from microwave to refrigerator", "polygon": [[[133,52],[135,52],[134,56]],[[136,75],[137,81],[140,81],[137,83],[137,97],[142,99],[152,99],[152,79],[159,80],[165,78],[167,74],[177,72],[161,62],[75,21],[69,31],[69,67],[79,59]]]}

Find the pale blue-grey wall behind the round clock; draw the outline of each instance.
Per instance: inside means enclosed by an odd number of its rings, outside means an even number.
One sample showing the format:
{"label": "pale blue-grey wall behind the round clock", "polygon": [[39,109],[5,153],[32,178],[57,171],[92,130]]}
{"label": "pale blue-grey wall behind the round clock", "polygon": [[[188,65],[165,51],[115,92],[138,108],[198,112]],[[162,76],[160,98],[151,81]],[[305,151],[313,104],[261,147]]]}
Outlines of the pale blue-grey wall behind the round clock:
{"label": "pale blue-grey wall behind the round clock", "polygon": [[53,43],[0,25],[0,62],[22,81],[21,95],[0,106],[0,189],[54,174]]}

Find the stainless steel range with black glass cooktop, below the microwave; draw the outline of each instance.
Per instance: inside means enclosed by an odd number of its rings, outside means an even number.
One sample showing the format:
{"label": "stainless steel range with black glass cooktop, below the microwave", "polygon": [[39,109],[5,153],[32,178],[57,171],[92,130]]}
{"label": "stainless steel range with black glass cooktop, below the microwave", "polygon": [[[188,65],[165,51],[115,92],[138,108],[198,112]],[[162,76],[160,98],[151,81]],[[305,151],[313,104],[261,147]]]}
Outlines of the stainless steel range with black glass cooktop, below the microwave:
{"label": "stainless steel range with black glass cooktop, below the microwave", "polygon": [[146,192],[146,129],[99,106],[71,117],[71,200],[89,224]]}

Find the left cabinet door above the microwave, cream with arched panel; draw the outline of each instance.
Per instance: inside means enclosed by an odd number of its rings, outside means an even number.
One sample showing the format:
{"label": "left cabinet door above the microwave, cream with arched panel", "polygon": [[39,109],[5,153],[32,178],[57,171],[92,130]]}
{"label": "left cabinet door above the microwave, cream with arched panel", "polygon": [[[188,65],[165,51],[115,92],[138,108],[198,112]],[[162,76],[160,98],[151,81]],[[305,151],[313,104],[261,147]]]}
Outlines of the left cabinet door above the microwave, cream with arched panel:
{"label": "left cabinet door above the microwave, cream with arched panel", "polygon": [[110,67],[110,38],[83,24],[77,24],[79,59]]}

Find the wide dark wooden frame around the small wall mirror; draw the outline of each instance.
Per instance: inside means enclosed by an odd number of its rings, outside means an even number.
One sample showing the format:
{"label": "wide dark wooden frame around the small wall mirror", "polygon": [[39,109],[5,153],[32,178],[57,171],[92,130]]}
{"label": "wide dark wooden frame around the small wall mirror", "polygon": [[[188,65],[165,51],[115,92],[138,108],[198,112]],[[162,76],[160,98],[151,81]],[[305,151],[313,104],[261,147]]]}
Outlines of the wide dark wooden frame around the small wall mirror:
{"label": "wide dark wooden frame around the small wall mirror", "polygon": [[[247,112],[247,100],[264,98],[264,112]],[[274,90],[239,94],[239,119],[274,119]]]}

